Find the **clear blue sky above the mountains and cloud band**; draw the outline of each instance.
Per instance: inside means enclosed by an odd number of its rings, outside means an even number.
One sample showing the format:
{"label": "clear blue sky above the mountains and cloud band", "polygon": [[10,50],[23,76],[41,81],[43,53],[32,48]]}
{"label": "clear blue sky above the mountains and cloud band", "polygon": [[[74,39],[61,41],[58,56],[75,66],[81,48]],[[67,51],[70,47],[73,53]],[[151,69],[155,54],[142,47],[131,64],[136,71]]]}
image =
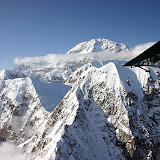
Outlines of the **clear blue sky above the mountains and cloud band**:
{"label": "clear blue sky above the mountains and cloud band", "polygon": [[65,53],[107,38],[128,47],[159,41],[159,0],[0,0],[0,69],[15,57]]}

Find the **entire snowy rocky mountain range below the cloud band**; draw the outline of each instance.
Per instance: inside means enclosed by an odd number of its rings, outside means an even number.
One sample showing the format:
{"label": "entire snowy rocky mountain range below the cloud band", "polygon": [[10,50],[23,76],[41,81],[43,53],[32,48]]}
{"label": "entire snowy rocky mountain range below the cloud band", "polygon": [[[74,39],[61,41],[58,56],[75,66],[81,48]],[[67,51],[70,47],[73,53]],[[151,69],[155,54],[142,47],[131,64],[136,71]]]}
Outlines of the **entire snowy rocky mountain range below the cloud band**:
{"label": "entire snowy rocky mountain range below the cloud band", "polygon": [[[0,141],[28,160],[160,159],[160,68],[123,63],[83,57],[2,71]],[[46,80],[51,73],[62,80]]]}

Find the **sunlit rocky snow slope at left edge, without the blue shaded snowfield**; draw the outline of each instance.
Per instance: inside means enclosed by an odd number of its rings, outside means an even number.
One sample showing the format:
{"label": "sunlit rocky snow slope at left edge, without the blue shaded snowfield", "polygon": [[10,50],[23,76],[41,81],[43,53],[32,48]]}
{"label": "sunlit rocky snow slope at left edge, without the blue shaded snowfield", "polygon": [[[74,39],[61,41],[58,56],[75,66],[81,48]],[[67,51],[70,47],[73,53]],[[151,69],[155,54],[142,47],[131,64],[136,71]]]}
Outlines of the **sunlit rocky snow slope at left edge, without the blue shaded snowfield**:
{"label": "sunlit rocky snow slope at left edge, without the blue shaded snowfield", "polygon": [[1,141],[26,141],[48,116],[30,78],[0,81],[0,106]]}

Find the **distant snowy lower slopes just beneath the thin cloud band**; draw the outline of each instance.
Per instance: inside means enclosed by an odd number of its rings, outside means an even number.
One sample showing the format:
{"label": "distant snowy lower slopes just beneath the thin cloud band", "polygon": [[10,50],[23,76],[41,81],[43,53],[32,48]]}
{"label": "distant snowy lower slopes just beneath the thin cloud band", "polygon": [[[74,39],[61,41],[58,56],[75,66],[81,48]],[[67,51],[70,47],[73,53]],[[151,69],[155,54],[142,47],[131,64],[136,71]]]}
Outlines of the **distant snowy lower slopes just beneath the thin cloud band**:
{"label": "distant snowy lower slopes just beneath the thin cloud band", "polygon": [[[34,77],[44,82],[61,82],[64,83],[76,69],[91,61],[91,59],[80,59],[78,61],[62,60],[58,63],[48,64],[42,68],[27,67],[20,64],[16,67],[16,71],[24,73],[25,76]],[[23,66],[23,67],[22,67]]]}

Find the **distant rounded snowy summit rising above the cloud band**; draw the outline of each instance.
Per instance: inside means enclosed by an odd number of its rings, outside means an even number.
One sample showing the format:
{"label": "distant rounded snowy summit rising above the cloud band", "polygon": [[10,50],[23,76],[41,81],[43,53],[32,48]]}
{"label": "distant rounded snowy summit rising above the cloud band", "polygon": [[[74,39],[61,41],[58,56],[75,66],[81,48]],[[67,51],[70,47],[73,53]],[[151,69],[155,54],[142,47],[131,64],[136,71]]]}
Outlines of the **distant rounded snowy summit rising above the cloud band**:
{"label": "distant rounded snowy summit rising above the cloud band", "polygon": [[98,38],[77,44],[75,47],[69,50],[67,54],[76,54],[76,53],[86,54],[86,53],[101,52],[101,51],[110,51],[113,53],[117,53],[127,50],[128,47],[123,43],[116,43],[108,39]]}

